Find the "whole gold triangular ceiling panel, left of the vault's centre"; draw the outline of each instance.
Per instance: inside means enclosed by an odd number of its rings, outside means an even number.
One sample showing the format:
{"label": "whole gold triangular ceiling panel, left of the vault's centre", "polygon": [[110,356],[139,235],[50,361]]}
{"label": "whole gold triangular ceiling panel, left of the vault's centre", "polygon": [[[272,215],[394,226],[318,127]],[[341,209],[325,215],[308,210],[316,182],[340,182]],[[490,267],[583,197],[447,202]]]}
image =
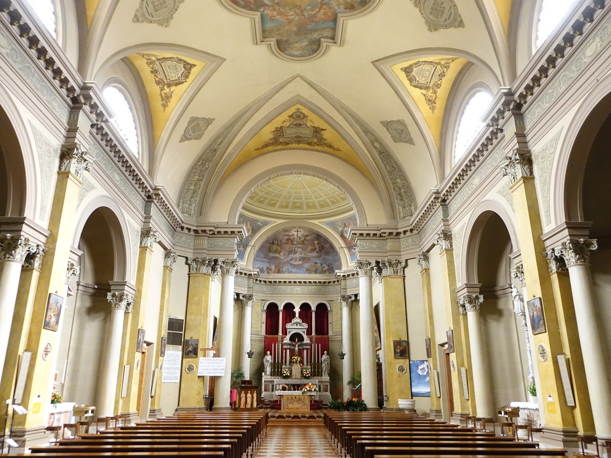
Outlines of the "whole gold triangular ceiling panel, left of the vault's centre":
{"label": "whole gold triangular ceiling panel, left of the vault's centre", "polygon": [[147,91],[156,145],[178,101],[206,62],[161,51],[130,54],[127,57],[140,73]]}

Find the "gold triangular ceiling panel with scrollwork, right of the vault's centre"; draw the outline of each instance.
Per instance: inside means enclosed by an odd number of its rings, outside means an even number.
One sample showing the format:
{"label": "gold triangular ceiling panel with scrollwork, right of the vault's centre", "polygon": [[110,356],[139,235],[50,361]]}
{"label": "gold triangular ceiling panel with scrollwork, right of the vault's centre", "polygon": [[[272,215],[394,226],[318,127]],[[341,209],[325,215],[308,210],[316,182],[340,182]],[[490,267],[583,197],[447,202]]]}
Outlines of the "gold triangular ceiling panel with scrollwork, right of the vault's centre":
{"label": "gold triangular ceiling panel with scrollwork, right of the vault's centre", "polygon": [[466,63],[462,57],[431,56],[390,66],[422,112],[437,147],[448,94]]}

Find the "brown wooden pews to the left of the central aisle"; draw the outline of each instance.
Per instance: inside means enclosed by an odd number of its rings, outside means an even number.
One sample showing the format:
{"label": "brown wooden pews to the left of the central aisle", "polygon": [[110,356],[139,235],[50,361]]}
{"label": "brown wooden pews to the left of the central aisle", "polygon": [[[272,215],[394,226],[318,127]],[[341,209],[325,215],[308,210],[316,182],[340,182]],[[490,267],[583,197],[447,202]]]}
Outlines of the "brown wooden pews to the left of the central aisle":
{"label": "brown wooden pews to the left of the central aisle", "polygon": [[185,412],[35,446],[31,453],[34,458],[251,458],[267,424],[265,412]]}

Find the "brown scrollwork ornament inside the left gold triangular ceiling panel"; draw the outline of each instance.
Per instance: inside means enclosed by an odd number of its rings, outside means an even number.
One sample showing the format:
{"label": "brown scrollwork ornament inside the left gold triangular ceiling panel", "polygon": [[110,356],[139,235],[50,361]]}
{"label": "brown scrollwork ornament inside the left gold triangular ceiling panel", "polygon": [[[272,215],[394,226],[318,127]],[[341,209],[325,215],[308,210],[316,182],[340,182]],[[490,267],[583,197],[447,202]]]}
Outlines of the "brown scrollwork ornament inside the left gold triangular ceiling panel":
{"label": "brown scrollwork ornament inside the left gold triangular ceiling panel", "polygon": [[137,54],[147,61],[151,75],[155,78],[155,84],[159,88],[161,107],[163,111],[166,111],[172,100],[172,94],[174,94],[172,87],[185,84],[196,64],[191,64],[180,57],[161,57],[150,53]]}

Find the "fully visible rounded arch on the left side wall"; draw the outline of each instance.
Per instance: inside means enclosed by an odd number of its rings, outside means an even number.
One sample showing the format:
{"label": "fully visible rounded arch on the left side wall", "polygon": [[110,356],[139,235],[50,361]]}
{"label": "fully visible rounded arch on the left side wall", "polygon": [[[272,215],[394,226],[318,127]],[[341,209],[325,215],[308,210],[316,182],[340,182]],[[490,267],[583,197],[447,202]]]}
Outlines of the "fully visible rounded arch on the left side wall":
{"label": "fully visible rounded arch on the left side wall", "polygon": [[91,214],[100,210],[103,214],[112,237],[112,250],[114,253],[114,278],[115,281],[130,280],[128,276],[131,272],[133,260],[130,256],[129,231],[128,225],[123,216],[121,208],[108,195],[100,195],[90,200],[83,206],[81,213],[77,215],[78,223],[72,238],[72,245],[76,246],[81,239],[82,230]]}

